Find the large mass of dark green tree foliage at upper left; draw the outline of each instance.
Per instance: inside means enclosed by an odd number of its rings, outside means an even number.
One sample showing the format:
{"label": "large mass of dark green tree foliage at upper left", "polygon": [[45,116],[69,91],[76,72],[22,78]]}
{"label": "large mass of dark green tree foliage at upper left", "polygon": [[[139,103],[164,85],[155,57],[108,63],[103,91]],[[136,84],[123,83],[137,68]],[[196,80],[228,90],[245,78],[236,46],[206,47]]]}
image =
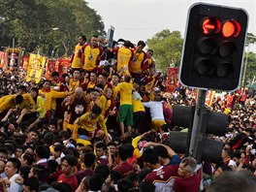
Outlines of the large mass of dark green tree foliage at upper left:
{"label": "large mass of dark green tree foliage at upper left", "polygon": [[[0,0],[0,45],[26,51],[40,49],[50,56],[71,53],[77,36],[105,35],[102,17],[83,0]],[[58,30],[52,30],[58,28]]]}

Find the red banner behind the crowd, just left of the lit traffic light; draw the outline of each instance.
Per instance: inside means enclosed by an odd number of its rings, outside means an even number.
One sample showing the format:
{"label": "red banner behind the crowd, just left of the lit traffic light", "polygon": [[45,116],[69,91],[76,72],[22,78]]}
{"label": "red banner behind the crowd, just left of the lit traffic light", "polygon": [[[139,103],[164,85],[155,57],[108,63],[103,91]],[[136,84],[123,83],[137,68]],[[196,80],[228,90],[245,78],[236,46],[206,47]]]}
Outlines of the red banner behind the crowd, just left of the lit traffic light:
{"label": "red banner behind the crowd, just left of the lit traffic light", "polygon": [[166,79],[166,92],[175,92],[178,84],[177,80],[178,68],[169,67]]}

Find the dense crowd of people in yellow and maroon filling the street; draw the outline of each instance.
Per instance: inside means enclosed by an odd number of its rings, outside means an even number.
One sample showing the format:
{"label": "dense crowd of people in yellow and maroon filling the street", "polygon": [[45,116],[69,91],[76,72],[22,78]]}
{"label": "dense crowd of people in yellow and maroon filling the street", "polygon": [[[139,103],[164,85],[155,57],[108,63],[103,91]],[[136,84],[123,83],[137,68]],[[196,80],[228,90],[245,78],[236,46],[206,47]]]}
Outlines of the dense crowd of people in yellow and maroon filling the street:
{"label": "dense crowd of people in yellow and maroon filling the street", "polygon": [[226,135],[208,136],[225,144],[222,161],[199,164],[167,143],[184,129],[172,107],[195,105],[196,90],[166,92],[144,47],[81,35],[67,74],[36,84],[1,70],[0,191],[255,191],[255,95],[215,94],[208,108],[229,114]]}

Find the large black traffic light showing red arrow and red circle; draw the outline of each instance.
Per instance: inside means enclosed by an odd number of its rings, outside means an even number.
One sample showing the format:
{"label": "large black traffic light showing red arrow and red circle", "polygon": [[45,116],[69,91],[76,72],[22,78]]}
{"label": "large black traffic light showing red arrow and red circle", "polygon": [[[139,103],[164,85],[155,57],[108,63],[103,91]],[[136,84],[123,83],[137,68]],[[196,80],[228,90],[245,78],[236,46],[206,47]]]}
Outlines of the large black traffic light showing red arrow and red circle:
{"label": "large black traffic light showing red arrow and red circle", "polygon": [[179,80],[201,89],[239,86],[247,29],[244,10],[198,3],[189,10]]}

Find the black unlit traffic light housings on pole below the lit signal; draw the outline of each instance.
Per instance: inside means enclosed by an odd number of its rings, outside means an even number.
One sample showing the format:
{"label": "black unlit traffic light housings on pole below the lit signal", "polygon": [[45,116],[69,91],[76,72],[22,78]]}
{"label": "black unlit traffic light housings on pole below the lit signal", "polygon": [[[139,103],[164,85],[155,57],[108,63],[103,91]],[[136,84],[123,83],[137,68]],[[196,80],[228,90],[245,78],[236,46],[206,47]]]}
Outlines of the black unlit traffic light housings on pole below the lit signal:
{"label": "black unlit traffic light housings on pole below the lit signal", "polygon": [[[188,133],[173,131],[170,133],[168,145],[170,145],[178,153],[186,153],[188,155],[188,147],[191,137],[192,122],[194,116],[194,107],[174,106],[172,124],[189,128]],[[223,143],[208,139],[207,135],[224,136],[228,126],[228,115],[221,112],[211,112],[202,109],[200,113],[200,131],[197,134],[197,145],[195,149],[200,156],[198,161],[219,162],[221,160],[221,152]]]}

